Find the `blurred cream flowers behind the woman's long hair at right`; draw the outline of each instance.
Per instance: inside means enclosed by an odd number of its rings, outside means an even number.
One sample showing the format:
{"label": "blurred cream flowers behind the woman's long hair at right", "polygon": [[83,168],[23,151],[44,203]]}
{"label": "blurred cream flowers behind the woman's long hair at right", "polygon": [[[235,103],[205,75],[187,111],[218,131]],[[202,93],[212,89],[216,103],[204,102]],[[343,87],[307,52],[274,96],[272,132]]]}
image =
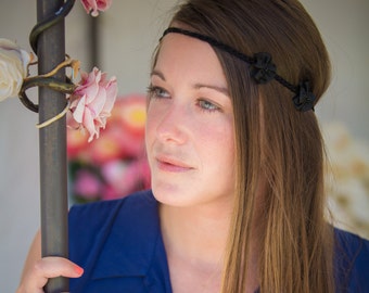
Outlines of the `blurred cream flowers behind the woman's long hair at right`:
{"label": "blurred cream flowers behind the woman's long hair at right", "polygon": [[369,239],[369,144],[354,139],[341,123],[328,124],[322,130],[333,224]]}

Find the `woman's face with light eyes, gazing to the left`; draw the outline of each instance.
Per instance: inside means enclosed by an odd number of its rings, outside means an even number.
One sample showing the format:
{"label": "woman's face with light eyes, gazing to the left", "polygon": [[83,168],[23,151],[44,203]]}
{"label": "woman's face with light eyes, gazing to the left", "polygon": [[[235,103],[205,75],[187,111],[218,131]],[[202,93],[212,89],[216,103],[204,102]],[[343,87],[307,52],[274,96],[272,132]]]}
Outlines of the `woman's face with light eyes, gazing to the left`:
{"label": "woman's face with light eyes, gazing to the left", "polygon": [[224,202],[234,190],[233,111],[211,46],[168,34],[151,74],[147,151],[163,204]]}

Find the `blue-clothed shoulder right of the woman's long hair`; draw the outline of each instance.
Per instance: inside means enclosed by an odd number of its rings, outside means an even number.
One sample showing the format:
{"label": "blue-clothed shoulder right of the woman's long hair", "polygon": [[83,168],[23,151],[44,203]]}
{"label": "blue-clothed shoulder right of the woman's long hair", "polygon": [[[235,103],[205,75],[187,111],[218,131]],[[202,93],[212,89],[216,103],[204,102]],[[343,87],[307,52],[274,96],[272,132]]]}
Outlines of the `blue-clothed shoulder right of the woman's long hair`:
{"label": "blue-clothed shoulder right of the woman's long hair", "polygon": [[369,292],[369,241],[335,229],[335,272],[344,292]]}

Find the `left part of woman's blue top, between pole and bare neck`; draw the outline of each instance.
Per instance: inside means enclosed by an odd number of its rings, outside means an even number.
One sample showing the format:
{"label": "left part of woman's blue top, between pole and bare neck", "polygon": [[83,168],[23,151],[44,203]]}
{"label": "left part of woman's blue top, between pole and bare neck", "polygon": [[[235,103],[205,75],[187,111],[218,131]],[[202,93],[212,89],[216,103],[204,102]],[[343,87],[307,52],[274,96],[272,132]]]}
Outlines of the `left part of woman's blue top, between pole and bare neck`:
{"label": "left part of woman's blue top, between pole and bare neck", "polygon": [[[74,292],[167,292],[157,202],[151,191],[69,212],[69,258],[82,266]],[[157,290],[154,290],[155,285]],[[149,289],[150,288],[150,289]],[[125,292],[126,292],[125,291]]]}

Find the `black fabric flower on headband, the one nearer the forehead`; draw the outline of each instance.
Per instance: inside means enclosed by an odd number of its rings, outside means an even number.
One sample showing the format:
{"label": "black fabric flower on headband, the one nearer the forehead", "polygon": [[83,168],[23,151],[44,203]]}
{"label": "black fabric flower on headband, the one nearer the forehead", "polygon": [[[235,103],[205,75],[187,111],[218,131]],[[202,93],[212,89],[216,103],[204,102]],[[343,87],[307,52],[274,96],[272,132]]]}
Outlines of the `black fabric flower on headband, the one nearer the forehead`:
{"label": "black fabric flower on headband, the one nearer the forehead", "polygon": [[271,63],[269,53],[260,52],[254,54],[254,62],[251,64],[251,76],[257,84],[267,84],[275,78],[277,67]]}

